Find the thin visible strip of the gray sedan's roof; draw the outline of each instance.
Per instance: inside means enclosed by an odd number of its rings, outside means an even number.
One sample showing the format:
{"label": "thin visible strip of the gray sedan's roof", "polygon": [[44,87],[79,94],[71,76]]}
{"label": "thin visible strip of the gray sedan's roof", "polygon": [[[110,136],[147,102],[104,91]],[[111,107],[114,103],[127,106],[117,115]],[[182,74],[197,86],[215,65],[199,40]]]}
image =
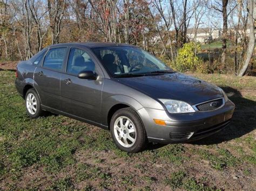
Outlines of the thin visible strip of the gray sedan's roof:
{"label": "thin visible strip of the gray sedan's roof", "polygon": [[97,48],[97,47],[109,47],[109,46],[130,46],[135,47],[133,45],[124,44],[124,43],[102,43],[102,42],[85,42],[85,43],[62,43],[62,44],[55,44],[50,45],[49,47],[55,47],[55,46],[72,46],[72,45],[82,45],[88,48]]}

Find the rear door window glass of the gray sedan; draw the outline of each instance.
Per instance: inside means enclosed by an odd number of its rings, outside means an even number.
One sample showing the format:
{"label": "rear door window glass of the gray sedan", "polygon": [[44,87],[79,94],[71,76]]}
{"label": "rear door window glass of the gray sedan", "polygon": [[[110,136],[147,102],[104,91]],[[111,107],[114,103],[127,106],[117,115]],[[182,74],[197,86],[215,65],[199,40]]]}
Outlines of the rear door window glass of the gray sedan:
{"label": "rear door window glass of the gray sedan", "polygon": [[52,48],[45,55],[43,66],[45,68],[51,68],[61,70],[63,61],[65,59],[67,48]]}

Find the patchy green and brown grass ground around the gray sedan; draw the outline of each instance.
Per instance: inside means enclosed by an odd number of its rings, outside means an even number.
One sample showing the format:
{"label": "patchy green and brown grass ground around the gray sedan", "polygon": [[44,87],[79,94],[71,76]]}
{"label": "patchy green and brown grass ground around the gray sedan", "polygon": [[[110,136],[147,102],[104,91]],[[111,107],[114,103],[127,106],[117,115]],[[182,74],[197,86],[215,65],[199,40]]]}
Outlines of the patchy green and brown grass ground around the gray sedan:
{"label": "patchy green and brown grass ground around the gray sedan", "polygon": [[110,133],[63,116],[26,116],[15,72],[0,69],[0,189],[256,188],[256,78],[192,74],[236,104],[223,131],[190,144],[127,154]]}

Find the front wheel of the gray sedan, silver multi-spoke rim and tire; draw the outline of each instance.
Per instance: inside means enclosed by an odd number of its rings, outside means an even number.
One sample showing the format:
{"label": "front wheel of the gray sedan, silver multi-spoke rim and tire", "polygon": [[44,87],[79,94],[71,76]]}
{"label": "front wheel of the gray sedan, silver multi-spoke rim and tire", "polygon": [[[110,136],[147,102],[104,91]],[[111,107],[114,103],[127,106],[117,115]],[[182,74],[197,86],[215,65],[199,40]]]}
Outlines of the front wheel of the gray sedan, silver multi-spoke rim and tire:
{"label": "front wheel of the gray sedan, silver multi-spoke rim and tire", "polygon": [[110,132],[114,143],[122,151],[136,153],[146,146],[146,132],[142,120],[131,108],[119,109],[114,113]]}

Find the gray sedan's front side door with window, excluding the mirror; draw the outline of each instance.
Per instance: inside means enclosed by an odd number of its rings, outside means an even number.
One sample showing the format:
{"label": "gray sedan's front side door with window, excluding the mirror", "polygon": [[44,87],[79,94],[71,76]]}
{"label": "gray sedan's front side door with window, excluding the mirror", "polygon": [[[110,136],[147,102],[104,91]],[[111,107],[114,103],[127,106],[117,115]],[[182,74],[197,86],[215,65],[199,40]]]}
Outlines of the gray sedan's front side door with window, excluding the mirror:
{"label": "gray sedan's front side door with window, excluding the mirror", "polygon": [[[79,79],[82,70],[92,70],[99,76],[97,80]],[[66,73],[60,80],[60,95],[62,110],[71,115],[98,122],[102,88],[103,72],[90,51],[84,47],[72,47],[66,66]]]}

